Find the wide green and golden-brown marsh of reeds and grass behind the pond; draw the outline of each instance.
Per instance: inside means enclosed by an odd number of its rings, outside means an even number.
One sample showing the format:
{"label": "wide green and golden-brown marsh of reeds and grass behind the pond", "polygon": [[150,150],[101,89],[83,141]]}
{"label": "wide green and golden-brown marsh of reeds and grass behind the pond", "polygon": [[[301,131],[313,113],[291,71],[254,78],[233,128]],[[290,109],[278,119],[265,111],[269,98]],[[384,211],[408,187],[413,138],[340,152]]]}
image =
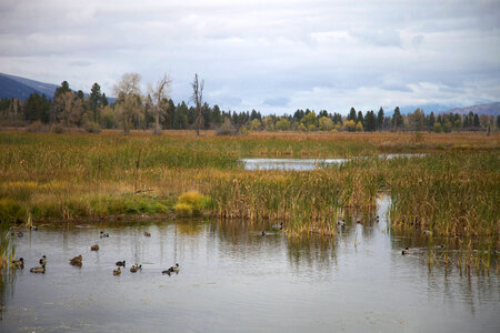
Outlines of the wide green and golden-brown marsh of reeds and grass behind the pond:
{"label": "wide green and golden-brown marsh of reeds and grass behind the pond", "polygon": [[[13,223],[190,215],[284,220],[290,230],[333,233],[346,209],[370,211],[391,194],[394,228],[498,235],[500,137],[484,133],[193,131],[122,135],[0,133],[0,216]],[[379,153],[428,153],[384,160]],[[246,171],[240,158],[373,157],[310,172]],[[189,191],[200,194],[184,196]],[[198,196],[197,196],[198,195]]]}

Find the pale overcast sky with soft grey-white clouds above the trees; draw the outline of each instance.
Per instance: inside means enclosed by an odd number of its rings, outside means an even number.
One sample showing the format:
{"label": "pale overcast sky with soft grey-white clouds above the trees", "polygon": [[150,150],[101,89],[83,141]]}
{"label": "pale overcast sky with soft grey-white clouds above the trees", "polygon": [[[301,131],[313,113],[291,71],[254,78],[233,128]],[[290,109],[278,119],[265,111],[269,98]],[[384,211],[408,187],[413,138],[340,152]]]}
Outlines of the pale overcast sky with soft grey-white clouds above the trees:
{"label": "pale overcast sky with soft grey-white clouds above the trees", "polygon": [[500,0],[2,0],[0,72],[107,95],[194,73],[224,110],[346,114],[500,101]]}

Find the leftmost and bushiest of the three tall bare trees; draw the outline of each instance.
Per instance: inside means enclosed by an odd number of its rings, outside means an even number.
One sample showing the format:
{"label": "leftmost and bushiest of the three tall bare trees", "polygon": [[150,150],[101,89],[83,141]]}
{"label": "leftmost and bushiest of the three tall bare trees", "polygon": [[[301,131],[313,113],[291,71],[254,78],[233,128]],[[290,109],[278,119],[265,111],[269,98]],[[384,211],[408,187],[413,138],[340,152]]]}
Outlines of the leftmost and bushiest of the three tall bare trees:
{"label": "leftmost and bushiest of the three tall bare trees", "polygon": [[114,85],[117,95],[116,110],[119,113],[123,132],[128,134],[134,118],[140,118],[142,111],[142,95],[139,83],[141,75],[138,73],[124,73]]}

